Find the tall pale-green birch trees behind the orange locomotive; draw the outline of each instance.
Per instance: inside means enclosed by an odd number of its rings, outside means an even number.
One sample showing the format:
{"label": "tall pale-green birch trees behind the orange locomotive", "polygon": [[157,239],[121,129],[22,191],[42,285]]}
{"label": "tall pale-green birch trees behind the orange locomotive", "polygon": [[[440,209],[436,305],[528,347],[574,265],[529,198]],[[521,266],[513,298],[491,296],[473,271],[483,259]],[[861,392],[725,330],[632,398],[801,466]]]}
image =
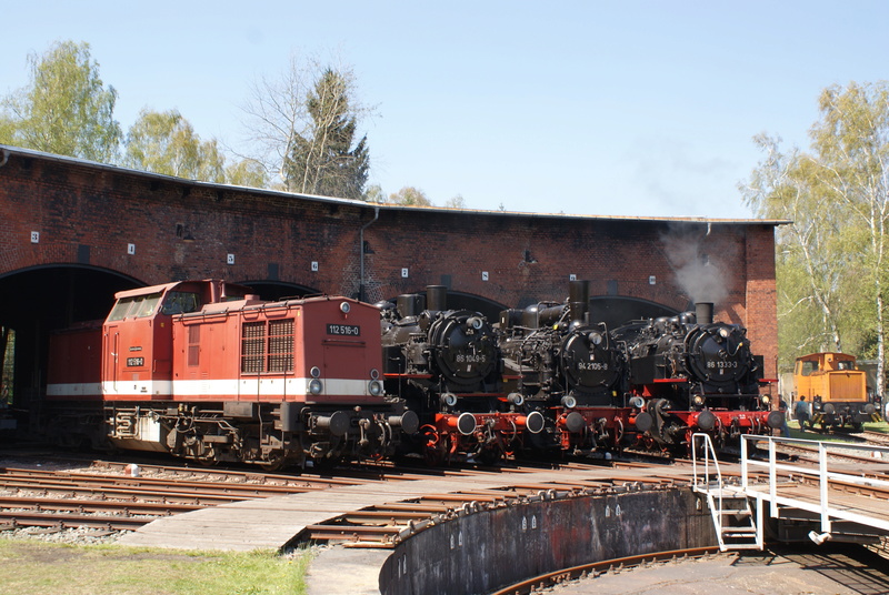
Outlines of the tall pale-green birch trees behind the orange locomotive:
{"label": "tall pale-green birch trees behind the orange locomotive", "polygon": [[[808,152],[756,139],[745,189],[777,238],[780,367],[812,351],[872,356],[883,376],[889,223],[889,83],[825,89]],[[883,387],[878,389],[882,394]]]}

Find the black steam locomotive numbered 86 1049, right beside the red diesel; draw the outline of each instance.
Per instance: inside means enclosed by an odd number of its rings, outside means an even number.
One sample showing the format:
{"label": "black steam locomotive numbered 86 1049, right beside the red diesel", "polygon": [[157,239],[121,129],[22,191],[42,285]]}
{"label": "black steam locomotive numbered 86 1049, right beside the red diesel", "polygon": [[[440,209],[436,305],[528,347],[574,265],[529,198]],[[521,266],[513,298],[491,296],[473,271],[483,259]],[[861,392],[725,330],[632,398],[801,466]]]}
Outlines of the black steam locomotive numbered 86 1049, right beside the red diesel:
{"label": "black steam locomotive numbered 86 1049, right beside the red diesel", "polygon": [[516,395],[503,394],[500,349],[482,314],[448,310],[441,285],[427,288],[426,299],[408,294],[378,305],[386,390],[420,416],[428,462],[490,464],[543,430],[541,413],[526,413]]}

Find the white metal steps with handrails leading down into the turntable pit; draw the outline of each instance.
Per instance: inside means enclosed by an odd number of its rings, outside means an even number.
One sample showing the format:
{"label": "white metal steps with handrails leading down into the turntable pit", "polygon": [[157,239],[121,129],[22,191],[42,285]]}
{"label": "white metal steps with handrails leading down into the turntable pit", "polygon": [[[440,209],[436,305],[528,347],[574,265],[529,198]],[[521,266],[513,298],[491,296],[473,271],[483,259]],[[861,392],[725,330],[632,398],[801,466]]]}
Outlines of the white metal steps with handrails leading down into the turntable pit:
{"label": "white metal steps with handrails leading down into the turntable pit", "polygon": [[[703,472],[698,475],[698,456],[701,453]],[[719,471],[719,461],[710,436],[692,436],[693,490],[707,496],[713,518],[719,549],[762,549],[762,502],[756,507],[740,486],[728,485]],[[711,470],[712,467],[712,470]]]}

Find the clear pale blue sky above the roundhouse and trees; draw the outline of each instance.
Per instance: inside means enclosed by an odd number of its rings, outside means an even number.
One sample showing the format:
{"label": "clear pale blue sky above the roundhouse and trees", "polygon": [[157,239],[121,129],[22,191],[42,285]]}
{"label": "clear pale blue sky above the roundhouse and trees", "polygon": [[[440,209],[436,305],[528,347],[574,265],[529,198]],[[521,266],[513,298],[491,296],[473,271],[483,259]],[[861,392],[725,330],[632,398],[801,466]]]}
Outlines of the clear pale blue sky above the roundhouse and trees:
{"label": "clear pale blue sky above the roundhouse and trees", "polygon": [[88,42],[119,93],[246,147],[243,104],[292,57],[352,69],[369,184],[437,205],[748,219],[753,137],[809,147],[818,97],[889,79],[889,2],[7,2],[0,94],[28,56]]}

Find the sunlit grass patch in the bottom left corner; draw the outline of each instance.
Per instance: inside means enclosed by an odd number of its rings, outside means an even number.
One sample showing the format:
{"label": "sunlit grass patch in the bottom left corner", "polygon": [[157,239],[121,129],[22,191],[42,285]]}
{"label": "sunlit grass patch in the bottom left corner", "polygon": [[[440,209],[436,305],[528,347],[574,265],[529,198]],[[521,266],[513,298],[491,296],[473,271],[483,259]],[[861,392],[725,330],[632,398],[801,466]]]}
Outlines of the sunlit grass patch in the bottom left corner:
{"label": "sunlit grass patch in the bottom left corner", "polygon": [[300,551],[186,552],[0,538],[3,593],[17,595],[304,594],[311,555]]}

